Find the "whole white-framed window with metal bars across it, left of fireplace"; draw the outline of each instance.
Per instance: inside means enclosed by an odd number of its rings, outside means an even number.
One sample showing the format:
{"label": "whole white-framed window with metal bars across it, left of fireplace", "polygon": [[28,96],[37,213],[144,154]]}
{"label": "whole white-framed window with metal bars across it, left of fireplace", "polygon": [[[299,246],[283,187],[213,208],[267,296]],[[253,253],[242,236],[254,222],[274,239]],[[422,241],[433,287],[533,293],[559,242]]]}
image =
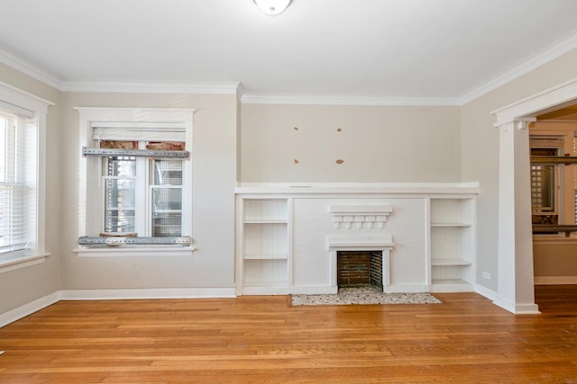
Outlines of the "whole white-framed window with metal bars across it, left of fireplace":
{"label": "whole white-framed window with metal bars across it, left of fireplace", "polygon": [[[85,210],[79,215],[78,252],[192,250],[191,110],[78,111]],[[144,118],[130,121],[135,115]]]}

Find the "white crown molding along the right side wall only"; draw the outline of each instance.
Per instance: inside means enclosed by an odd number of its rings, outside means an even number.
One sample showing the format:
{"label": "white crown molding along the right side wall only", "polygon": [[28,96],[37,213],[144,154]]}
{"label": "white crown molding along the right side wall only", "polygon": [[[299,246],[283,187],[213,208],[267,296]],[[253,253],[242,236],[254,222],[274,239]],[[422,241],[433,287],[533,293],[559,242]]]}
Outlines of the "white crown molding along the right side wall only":
{"label": "white crown molding along the right side wall only", "polygon": [[481,85],[480,87],[473,90],[469,94],[464,94],[459,99],[459,104],[464,105],[466,103],[470,103],[473,100],[481,97],[482,95],[488,94],[490,93],[490,91],[499,88],[499,86],[506,85],[507,83],[517,79],[518,77],[523,76],[528,72],[531,72],[532,70],[536,69],[537,67],[540,67],[545,63],[553,60],[554,58],[558,58],[563,54],[576,48],[577,48],[577,30],[568,33],[563,38],[557,40],[547,48],[542,49],[534,53],[533,55],[529,56],[528,58],[522,60],[520,63],[517,64],[517,66],[511,67],[507,72],[491,80],[489,83]]}

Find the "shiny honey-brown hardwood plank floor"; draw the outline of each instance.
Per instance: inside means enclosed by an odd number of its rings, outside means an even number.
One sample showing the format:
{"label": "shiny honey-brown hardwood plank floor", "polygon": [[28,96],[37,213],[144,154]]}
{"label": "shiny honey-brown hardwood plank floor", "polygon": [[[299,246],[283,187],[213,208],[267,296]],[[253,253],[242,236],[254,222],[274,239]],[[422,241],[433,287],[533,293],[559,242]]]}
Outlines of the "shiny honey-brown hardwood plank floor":
{"label": "shiny honey-brown hardwood plank floor", "polygon": [[536,287],[542,315],[435,296],[60,301],[0,329],[0,382],[577,382],[577,286]]}

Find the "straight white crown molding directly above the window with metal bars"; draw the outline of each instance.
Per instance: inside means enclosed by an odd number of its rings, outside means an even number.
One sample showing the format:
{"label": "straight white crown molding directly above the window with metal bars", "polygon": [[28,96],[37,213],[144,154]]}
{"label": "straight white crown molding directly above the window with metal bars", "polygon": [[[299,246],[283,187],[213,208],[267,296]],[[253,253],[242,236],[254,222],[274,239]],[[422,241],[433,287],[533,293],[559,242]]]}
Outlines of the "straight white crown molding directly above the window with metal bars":
{"label": "straight white crown molding directly above the window with metal bars", "polygon": [[240,82],[63,82],[62,92],[135,93],[135,94],[239,94]]}

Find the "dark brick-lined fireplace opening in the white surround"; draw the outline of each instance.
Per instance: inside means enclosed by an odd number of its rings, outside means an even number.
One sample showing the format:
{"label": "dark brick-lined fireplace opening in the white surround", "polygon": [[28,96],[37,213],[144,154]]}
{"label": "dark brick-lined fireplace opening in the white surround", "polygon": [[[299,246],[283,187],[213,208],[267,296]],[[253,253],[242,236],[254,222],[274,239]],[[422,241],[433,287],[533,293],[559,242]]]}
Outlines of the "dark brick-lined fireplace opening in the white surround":
{"label": "dark brick-lined fireplace opening in the white surround", "polygon": [[339,288],[370,285],[382,287],[381,251],[337,251],[336,279]]}

